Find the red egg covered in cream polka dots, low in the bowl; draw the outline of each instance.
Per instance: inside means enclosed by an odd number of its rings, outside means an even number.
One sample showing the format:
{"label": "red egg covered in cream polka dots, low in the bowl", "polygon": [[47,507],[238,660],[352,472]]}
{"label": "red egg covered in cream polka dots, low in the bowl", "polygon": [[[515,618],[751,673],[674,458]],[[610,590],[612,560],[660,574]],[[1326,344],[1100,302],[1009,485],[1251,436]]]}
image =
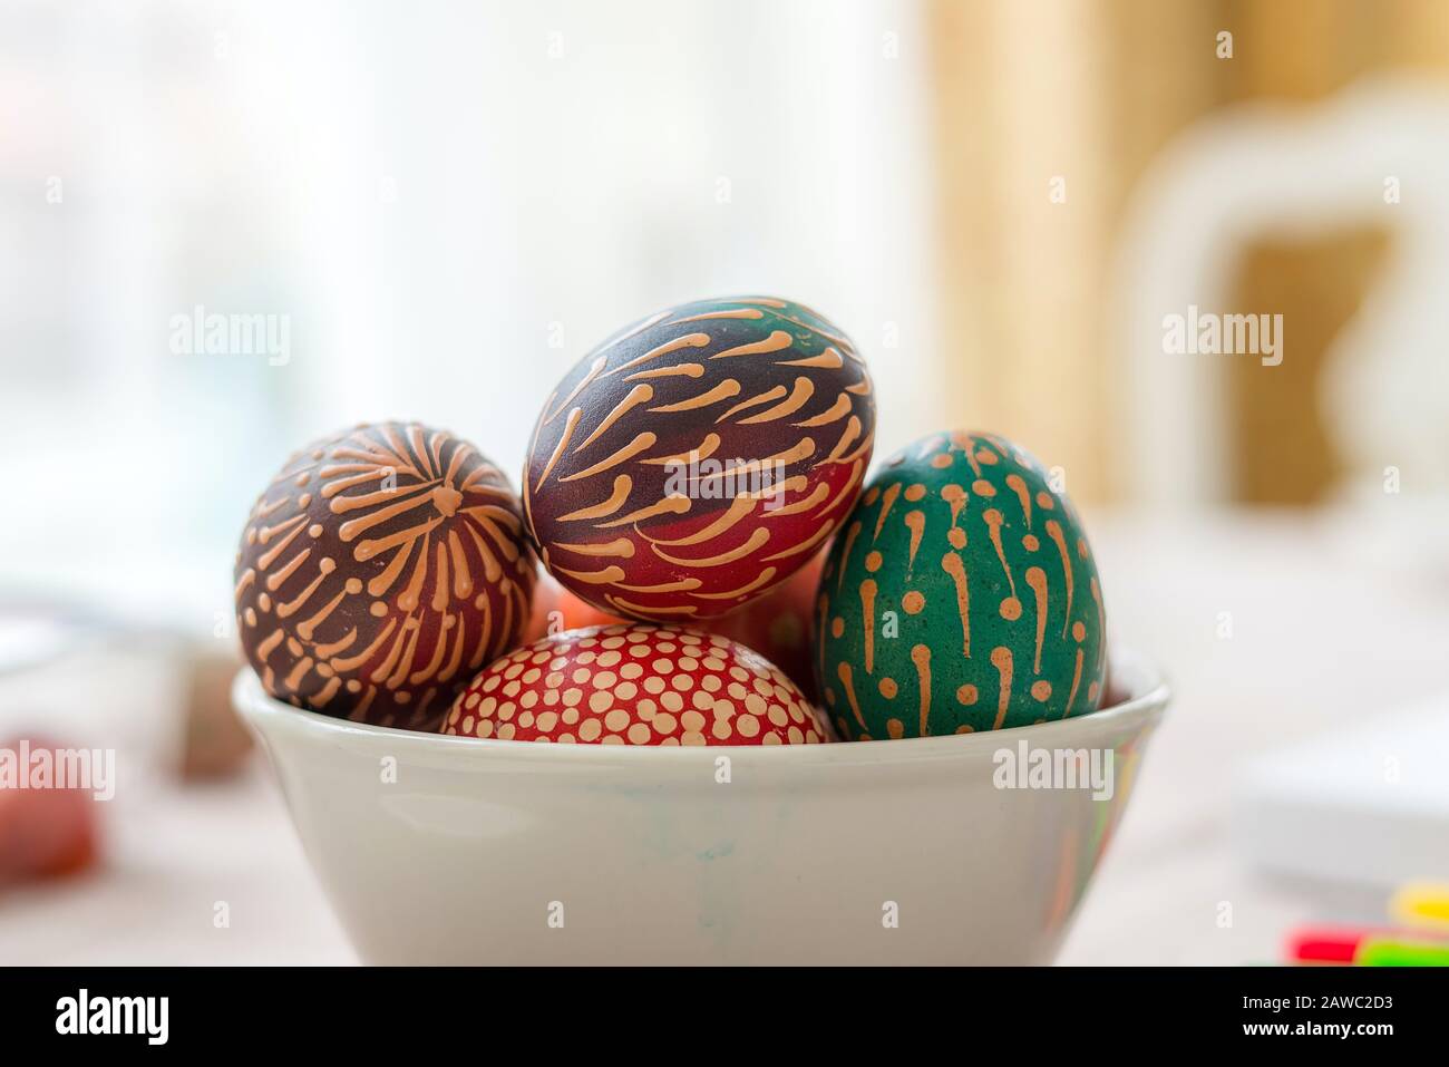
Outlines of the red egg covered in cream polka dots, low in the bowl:
{"label": "red egg covered in cream polka dots, low in the bowl", "polygon": [[443,734],[604,745],[827,741],[794,683],[717,634],[645,622],[565,631],[490,664]]}

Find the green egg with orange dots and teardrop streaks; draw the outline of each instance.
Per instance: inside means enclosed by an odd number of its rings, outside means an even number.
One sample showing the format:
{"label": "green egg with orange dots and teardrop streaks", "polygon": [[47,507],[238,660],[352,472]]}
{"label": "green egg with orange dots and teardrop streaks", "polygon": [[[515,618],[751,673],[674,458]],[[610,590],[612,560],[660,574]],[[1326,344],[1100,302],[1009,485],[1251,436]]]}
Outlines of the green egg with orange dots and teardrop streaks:
{"label": "green egg with orange dots and teardrop streaks", "polygon": [[1046,471],[991,433],[936,433],[871,480],[826,561],[816,670],[852,739],[1097,710],[1101,584]]}

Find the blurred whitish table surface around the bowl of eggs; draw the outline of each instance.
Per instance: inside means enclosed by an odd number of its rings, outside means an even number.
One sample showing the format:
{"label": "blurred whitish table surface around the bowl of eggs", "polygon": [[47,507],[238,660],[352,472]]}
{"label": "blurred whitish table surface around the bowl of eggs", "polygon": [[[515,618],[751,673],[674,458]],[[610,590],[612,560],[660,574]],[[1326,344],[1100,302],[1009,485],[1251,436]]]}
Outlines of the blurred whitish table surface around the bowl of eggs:
{"label": "blurred whitish table surface around the bowl of eggs", "polygon": [[[1445,689],[1449,564],[1359,513],[1093,528],[1114,639],[1162,663],[1175,697],[1059,963],[1268,961],[1297,922],[1375,918],[1377,890],[1245,868],[1233,776],[1249,755]],[[167,686],[103,657],[68,668],[64,703],[122,689],[161,700]],[[12,686],[0,712],[38,700]],[[96,870],[0,893],[0,964],[355,963],[261,757],[217,784],[141,774],[104,812]]]}

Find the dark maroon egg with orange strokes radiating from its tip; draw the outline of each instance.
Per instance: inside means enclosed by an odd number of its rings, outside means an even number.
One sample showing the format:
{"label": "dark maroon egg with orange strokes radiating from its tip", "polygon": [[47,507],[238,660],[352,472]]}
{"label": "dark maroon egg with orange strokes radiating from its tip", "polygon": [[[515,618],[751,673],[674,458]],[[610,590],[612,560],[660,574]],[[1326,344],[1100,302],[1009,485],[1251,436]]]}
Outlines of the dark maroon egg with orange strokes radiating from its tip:
{"label": "dark maroon egg with orange strokes radiating from its tip", "polygon": [[238,631],[274,697],[432,731],[517,644],[533,577],[517,497],[474,445],[359,426],[293,455],[256,500]]}

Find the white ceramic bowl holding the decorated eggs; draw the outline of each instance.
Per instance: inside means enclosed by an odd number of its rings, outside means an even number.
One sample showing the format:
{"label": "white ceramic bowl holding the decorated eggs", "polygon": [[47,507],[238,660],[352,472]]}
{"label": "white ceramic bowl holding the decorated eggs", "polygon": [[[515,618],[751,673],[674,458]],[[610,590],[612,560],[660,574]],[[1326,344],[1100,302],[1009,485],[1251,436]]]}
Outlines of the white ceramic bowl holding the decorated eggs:
{"label": "white ceramic bowl holding the decorated eggs", "polygon": [[[1126,699],[1077,719],[780,748],[359,726],[249,670],[233,699],[368,963],[1039,964],[1168,702],[1136,657],[1111,677]],[[1111,797],[998,787],[1023,742],[1110,751]]]}

